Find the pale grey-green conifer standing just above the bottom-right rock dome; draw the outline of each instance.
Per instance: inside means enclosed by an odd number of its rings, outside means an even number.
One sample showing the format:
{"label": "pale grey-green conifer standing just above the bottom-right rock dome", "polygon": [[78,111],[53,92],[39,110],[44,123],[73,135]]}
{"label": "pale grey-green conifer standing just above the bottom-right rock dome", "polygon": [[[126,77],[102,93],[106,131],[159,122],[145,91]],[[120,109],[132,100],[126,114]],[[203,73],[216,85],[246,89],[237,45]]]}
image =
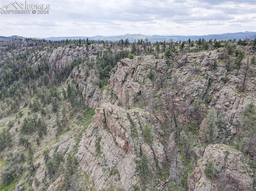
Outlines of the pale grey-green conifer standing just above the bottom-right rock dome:
{"label": "pale grey-green conifer standing just above the bottom-right rock dome", "polygon": [[206,115],[204,132],[206,141],[214,143],[218,136],[217,115],[214,108],[211,108]]}

